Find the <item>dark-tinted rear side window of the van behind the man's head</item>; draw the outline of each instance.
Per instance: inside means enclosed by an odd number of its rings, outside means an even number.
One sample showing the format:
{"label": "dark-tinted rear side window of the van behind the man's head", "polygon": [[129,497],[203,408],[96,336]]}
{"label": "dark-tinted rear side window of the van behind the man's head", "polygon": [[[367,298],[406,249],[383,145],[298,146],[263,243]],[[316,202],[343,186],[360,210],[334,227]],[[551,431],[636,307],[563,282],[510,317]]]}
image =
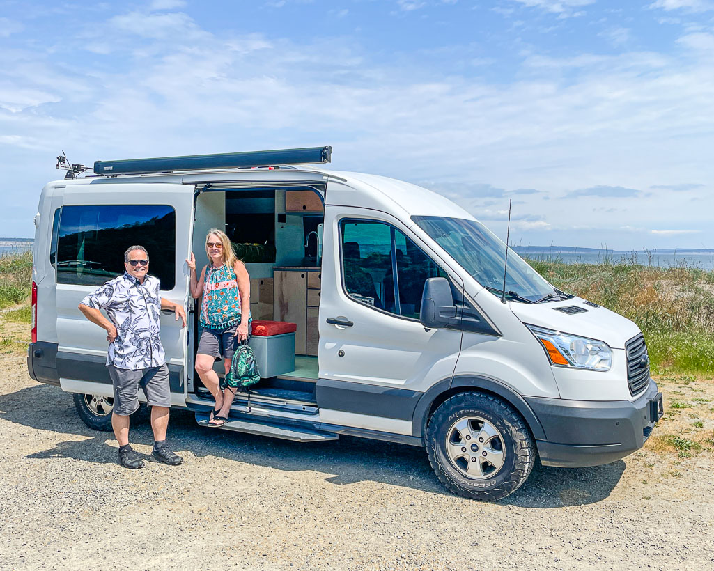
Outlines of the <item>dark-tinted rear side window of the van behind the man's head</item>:
{"label": "dark-tinted rear side window of the van behind the man's head", "polygon": [[167,205],[63,206],[57,239],[57,283],[101,285],[124,273],[129,246],[149,251],[149,274],[174,288],[176,211]]}

